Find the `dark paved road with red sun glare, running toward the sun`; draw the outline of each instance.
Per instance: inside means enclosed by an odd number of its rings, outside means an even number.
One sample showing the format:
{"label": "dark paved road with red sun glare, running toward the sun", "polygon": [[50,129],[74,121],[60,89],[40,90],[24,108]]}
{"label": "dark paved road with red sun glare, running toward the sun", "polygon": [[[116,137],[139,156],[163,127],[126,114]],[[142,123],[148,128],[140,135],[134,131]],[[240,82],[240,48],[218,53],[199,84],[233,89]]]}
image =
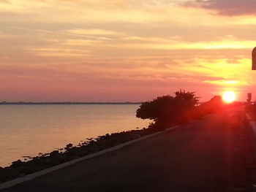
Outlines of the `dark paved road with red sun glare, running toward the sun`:
{"label": "dark paved road with red sun glare, running toward the sun", "polygon": [[252,191],[242,112],[222,112],[4,191]]}

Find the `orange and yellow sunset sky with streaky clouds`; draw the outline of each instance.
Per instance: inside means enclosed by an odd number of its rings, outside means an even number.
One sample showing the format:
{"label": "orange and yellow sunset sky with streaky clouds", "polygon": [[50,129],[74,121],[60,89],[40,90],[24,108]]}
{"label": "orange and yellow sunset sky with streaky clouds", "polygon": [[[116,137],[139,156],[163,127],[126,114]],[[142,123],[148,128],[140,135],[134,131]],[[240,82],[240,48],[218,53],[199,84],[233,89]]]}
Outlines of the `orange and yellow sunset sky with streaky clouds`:
{"label": "orange and yellow sunset sky with streaky clouds", "polygon": [[0,101],[256,99],[255,0],[0,0]]}

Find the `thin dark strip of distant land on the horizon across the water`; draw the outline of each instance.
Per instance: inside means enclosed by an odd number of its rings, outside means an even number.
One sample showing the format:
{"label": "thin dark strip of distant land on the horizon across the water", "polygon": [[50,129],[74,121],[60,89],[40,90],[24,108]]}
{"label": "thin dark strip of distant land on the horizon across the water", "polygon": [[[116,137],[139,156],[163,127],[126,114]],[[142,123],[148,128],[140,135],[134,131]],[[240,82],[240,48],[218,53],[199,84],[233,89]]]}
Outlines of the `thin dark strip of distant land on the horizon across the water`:
{"label": "thin dark strip of distant land on the horizon across the water", "polygon": [[142,102],[0,102],[0,105],[7,104],[141,104]]}

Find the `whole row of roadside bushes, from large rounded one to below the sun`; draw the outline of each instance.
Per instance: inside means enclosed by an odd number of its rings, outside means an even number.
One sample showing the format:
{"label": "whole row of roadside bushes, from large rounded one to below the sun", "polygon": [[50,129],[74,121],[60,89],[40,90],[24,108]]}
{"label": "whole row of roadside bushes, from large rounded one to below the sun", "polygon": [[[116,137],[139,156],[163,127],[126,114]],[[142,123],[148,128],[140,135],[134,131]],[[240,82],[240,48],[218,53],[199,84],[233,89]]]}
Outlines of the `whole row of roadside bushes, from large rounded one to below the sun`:
{"label": "whole row of roadside bushes, from large rounded one to below the sun", "polygon": [[189,120],[200,119],[205,115],[241,105],[240,102],[225,104],[221,96],[214,96],[200,105],[197,103],[195,92],[177,91],[175,96],[159,96],[153,101],[143,102],[136,117],[153,120],[148,128],[159,131],[173,124],[187,123]]}

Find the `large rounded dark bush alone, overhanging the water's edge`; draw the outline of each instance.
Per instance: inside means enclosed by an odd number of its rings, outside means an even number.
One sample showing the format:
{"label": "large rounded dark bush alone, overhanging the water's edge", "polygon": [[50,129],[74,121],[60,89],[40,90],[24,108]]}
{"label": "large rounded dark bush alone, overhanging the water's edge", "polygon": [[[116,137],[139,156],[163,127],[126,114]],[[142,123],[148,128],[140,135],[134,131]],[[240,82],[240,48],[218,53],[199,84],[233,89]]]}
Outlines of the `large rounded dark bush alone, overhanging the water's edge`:
{"label": "large rounded dark bush alone, overhanging the water's edge", "polygon": [[159,96],[140,105],[136,117],[154,120],[149,125],[156,130],[165,129],[175,123],[185,123],[192,118],[198,97],[195,92],[176,91],[175,96]]}

